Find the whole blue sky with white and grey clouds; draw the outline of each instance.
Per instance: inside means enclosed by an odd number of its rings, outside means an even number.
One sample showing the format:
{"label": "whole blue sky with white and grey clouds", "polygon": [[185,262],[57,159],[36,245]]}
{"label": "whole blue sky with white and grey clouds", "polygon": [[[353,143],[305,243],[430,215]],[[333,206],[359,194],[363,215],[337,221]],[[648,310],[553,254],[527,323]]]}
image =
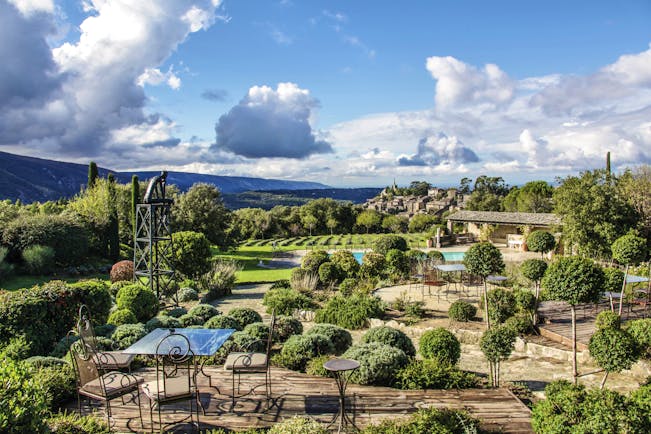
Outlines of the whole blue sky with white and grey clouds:
{"label": "whole blue sky with white and grey clouds", "polygon": [[0,0],[0,151],[382,187],[651,164],[649,0]]}

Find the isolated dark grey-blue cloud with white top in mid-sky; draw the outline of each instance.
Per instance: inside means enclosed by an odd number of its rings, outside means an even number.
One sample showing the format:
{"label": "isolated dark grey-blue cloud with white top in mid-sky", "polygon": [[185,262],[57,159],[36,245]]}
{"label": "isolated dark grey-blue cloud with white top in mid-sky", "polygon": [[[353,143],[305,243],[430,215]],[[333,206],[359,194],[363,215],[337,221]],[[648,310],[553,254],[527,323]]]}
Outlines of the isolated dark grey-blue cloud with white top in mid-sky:
{"label": "isolated dark grey-blue cloud with white top in mid-sky", "polygon": [[216,149],[247,158],[306,158],[333,152],[317,139],[310,118],[318,101],[294,83],[279,83],[274,90],[253,86],[215,125]]}

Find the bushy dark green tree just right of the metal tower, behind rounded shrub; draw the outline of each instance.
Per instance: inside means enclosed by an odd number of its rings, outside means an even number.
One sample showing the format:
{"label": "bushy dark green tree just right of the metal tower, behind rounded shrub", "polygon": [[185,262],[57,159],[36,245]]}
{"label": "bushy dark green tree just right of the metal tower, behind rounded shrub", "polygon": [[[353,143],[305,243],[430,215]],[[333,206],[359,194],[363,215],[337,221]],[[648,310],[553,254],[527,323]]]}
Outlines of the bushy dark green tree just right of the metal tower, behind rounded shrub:
{"label": "bushy dark green tree just right of the metal tower, behind rounded shrub", "polygon": [[180,195],[172,207],[172,218],[175,230],[201,232],[220,250],[234,243],[227,232],[232,213],[224,206],[219,189],[212,184],[196,183]]}

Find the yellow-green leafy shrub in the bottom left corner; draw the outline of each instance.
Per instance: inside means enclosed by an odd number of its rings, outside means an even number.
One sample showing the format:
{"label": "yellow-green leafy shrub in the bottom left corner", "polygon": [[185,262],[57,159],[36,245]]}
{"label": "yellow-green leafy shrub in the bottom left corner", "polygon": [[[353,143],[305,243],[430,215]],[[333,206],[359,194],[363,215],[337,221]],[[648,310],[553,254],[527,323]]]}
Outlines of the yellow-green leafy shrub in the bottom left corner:
{"label": "yellow-green leafy shrub in the bottom left corner", "polygon": [[0,363],[0,431],[45,432],[47,397],[43,386],[32,378],[22,362],[5,358]]}

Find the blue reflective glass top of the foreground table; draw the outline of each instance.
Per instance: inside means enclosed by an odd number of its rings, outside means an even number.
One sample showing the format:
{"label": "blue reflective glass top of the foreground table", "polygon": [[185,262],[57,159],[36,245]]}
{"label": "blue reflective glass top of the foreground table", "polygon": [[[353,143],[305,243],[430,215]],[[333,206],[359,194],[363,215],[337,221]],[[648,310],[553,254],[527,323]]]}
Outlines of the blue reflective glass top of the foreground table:
{"label": "blue reflective glass top of the foreground table", "polygon": [[[154,329],[138,342],[123,350],[125,354],[156,355],[158,343],[170,333],[178,333],[190,342],[190,349],[195,356],[212,356],[224,345],[224,342],[235,332],[235,329]],[[169,342],[167,340],[166,342]],[[170,345],[161,345],[158,355],[168,354]]]}

